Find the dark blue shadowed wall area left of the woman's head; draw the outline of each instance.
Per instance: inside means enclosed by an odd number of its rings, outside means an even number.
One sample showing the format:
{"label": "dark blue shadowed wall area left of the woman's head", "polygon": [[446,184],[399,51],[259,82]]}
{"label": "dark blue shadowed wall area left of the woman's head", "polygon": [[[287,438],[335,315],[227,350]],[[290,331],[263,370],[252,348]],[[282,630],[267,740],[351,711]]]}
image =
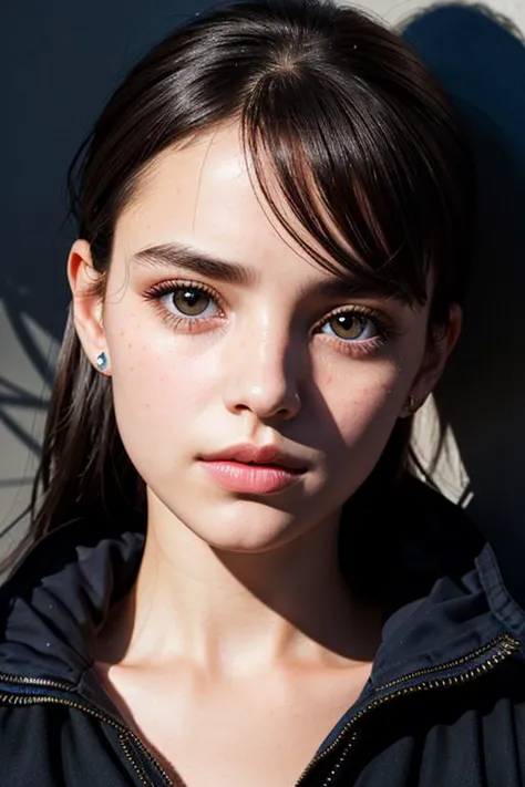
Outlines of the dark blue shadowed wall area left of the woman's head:
{"label": "dark blue shadowed wall area left of the woman's head", "polygon": [[[66,170],[127,69],[209,0],[0,2],[0,535],[12,498],[29,500],[52,354],[65,324],[65,261],[75,237]],[[4,504],[6,501],[6,504]],[[16,508],[20,506],[16,505]],[[7,545],[8,546],[8,545]],[[0,539],[0,557],[3,541]]]}

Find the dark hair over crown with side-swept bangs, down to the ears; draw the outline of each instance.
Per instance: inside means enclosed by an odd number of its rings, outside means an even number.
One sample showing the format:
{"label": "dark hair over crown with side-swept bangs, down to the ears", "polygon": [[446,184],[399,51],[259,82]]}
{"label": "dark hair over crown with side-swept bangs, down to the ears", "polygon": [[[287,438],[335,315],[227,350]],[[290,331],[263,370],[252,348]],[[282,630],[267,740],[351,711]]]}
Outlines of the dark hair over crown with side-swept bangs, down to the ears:
{"label": "dark hair over crown with side-swept bangs, down to the ears", "polygon": [[101,266],[150,163],[239,122],[248,172],[285,241],[413,308],[432,271],[435,322],[464,302],[475,194],[464,131],[397,34],[329,0],[222,7],[131,72],[79,172],[80,230]]}

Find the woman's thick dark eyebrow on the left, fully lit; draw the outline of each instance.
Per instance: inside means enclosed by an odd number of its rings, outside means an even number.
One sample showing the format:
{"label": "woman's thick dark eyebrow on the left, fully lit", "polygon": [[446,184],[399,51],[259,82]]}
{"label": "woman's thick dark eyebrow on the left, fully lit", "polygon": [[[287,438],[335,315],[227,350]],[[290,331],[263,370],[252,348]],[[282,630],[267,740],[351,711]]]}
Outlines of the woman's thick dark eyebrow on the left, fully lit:
{"label": "woman's thick dark eyebrow on the left, fully lit", "polygon": [[254,287],[258,280],[257,272],[251,268],[175,242],[142,249],[133,255],[132,262],[146,267],[184,268],[197,276],[243,287]]}

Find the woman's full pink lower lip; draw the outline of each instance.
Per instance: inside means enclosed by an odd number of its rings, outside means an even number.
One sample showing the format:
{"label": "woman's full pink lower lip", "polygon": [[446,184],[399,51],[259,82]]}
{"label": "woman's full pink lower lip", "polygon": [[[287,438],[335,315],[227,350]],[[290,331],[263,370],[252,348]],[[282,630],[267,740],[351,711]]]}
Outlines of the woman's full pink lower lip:
{"label": "woman's full pink lower lip", "polygon": [[303,470],[241,462],[202,462],[202,465],[226,489],[253,495],[280,491],[303,475]]}

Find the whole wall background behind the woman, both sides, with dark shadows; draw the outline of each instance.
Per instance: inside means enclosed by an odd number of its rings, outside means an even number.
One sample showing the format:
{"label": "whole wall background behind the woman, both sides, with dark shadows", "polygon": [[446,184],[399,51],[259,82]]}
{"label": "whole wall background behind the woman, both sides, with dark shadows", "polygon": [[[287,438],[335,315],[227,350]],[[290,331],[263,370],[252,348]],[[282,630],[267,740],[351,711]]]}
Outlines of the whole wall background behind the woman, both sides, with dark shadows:
{"label": "whole wall background behind the woman, both sides, with dark shadows", "polygon": [[[64,324],[64,265],[74,237],[64,224],[66,167],[126,68],[206,4],[4,0],[0,10],[2,74],[9,74],[0,130],[0,530],[28,501]],[[525,49],[518,31],[525,3],[493,4],[517,29],[464,6],[361,3],[389,22],[420,9],[405,34],[472,128],[482,186],[472,297],[462,344],[421,414],[418,445],[428,456],[436,425],[445,431],[437,481],[469,507],[517,588],[525,549]],[[0,553],[20,527],[0,538]]]}

